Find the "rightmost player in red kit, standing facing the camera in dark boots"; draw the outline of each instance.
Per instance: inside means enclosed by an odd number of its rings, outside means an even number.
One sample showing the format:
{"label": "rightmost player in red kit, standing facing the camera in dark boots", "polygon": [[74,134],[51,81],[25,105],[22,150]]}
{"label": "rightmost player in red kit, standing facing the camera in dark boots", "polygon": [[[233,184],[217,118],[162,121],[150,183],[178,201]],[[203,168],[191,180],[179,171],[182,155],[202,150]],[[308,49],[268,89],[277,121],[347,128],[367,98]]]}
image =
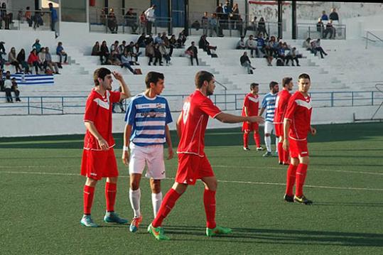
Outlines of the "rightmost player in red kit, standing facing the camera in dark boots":
{"label": "rightmost player in red kit, standing facing the camera in dark boots", "polygon": [[[316,129],[311,126],[311,98],[308,95],[311,80],[306,73],[298,77],[298,91],[290,99],[286,114],[284,116],[284,150],[289,150],[291,163],[287,169],[286,192],[284,200],[286,202],[298,202],[303,205],[311,205],[313,201],[308,200],[303,195],[303,185],[305,184],[309,158],[307,147],[307,134],[311,132],[313,136]],[[296,192],[293,196],[293,185],[296,185]]]}

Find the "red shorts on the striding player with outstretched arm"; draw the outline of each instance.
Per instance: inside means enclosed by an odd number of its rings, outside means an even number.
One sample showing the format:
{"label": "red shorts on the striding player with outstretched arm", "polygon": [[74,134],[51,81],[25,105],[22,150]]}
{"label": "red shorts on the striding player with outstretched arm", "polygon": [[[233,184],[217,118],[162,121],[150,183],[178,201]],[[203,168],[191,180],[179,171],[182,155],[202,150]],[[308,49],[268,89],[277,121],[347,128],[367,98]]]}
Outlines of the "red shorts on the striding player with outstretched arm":
{"label": "red shorts on the striding player with outstretched arm", "polygon": [[206,155],[200,157],[189,153],[178,154],[177,183],[194,185],[197,179],[214,176]]}

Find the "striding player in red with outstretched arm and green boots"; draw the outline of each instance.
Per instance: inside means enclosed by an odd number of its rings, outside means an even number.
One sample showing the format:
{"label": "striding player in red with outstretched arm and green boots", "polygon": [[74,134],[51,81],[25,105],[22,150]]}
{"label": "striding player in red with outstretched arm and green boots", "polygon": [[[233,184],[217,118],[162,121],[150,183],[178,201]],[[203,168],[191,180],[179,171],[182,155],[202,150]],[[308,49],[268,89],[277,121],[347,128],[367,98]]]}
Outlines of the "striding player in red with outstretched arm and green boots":
{"label": "striding player in red with outstretched arm and green boots", "polygon": [[219,227],[215,224],[215,191],[217,179],[204,152],[205,130],[209,116],[224,123],[243,121],[262,122],[260,116],[235,116],[226,114],[216,107],[208,96],[215,89],[215,78],[210,72],[199,71],[195,75],[195,92],[185,100],[182,112],[176,123],[178,144],[178,170],[176,182],[163,198],[156,218],[148,227],[148,232],[158,240],[168,240],[161,227],[163,219],[171,212],[178,198],[185,192],[188,185],[195,185],[200,179],[205,184],[203,204],[206,214],[206,235],[230,234],[232,229]]}

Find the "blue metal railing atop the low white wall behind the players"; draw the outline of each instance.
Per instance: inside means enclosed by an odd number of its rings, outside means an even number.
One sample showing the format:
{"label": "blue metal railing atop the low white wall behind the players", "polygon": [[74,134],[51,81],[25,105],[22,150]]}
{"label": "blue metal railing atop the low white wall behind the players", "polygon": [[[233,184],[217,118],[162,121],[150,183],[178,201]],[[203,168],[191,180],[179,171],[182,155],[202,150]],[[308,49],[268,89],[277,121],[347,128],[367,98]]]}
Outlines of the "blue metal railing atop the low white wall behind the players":
{"label": "blue metal railing atop the low white wall behind the players", "polygon": [[[313,107],[360,107],[378,106],[383,100],[379,91],[350,92],[312,92]],[[264,94],[260,94],[263,96]],[[242,109],[245,94],[213,94],[212,102],[223,110]],[[164,95],[168,99],[172,112],[180,112],[183,100],[188,94]],[[83,114],[86,96],[42,96],[20,97],[21,102],[0,104],[0,116],[6,115],[49,115],[49,114]],[[2,102],[6,102],[2,97]],[[126,109],[129,99],[125,100]],[[118,108],[118,107],[117,107]]]}

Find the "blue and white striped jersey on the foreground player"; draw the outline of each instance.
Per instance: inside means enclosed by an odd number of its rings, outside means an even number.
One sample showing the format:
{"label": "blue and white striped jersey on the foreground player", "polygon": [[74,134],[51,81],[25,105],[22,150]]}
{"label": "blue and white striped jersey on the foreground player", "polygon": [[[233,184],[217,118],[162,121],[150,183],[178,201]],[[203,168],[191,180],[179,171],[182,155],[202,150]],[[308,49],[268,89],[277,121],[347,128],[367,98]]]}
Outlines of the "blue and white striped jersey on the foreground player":
{"label": "blue and white striped jersey on the foreground player", "polygon": [[165,97],[138,94],[129,103],[125,121],[132,126],[130,141],[137,146],[149,146],[166,142],[165,126],[173,119]]}

